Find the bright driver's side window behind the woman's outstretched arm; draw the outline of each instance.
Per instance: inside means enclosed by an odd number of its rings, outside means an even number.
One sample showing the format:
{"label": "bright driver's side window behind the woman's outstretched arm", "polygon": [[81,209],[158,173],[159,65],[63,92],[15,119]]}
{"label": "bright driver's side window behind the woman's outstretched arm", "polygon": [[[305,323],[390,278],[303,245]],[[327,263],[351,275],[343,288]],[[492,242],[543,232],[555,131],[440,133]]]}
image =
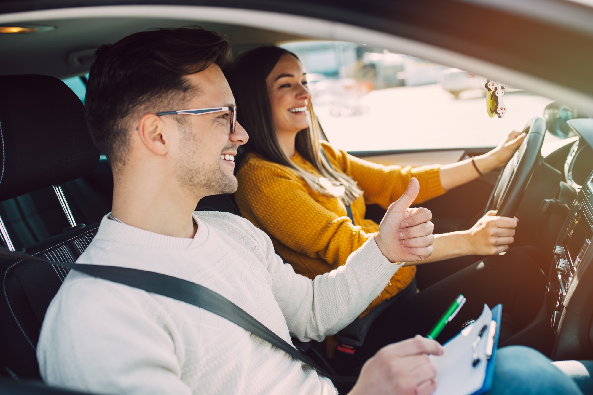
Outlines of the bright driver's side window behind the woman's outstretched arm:
{"label": "bright driver's side window behind the woman's outstretched arm", "polygon": [[[502,118],[486,110],[486,78],[381,48],[297,42],[315,112],[327,138],[347,151],[495,146],[543,116],[553,100],[508,87]],[[504,82],[504,81],[500,81]]]}

